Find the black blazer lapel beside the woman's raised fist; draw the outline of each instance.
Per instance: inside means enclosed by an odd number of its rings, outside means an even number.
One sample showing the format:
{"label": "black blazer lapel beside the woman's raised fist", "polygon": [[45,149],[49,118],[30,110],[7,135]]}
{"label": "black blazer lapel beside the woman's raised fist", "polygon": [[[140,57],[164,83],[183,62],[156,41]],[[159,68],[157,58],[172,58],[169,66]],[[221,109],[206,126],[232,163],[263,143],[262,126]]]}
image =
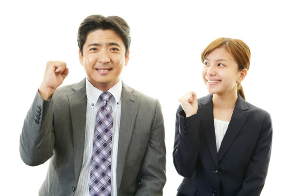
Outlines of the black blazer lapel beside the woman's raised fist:
{"label": "black blazer lapel beside the woman's raised fist", "polygon": [[202,107],[198,108],[201,127],[205,135],[211,156],[216,166],[219,167],[213,117],[212,95],[207,95],[205,98],[202,99],[199,104],[200,106],[203,105]]}

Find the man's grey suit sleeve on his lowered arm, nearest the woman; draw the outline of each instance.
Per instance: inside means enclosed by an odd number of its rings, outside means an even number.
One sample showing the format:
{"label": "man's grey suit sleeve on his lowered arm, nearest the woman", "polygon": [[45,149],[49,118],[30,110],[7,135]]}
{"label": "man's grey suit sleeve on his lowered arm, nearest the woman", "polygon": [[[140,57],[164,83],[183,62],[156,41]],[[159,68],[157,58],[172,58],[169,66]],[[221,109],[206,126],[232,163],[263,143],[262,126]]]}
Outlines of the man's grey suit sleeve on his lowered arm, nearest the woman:
{"label": "man's grey suit sleeve on his lowered arm, nearest the woman", "polygon": [[166,146],[161,105],[156,100],[156,111],[149,141],[140,168],[140,184],[136,196],[162,196],[166,183]]}

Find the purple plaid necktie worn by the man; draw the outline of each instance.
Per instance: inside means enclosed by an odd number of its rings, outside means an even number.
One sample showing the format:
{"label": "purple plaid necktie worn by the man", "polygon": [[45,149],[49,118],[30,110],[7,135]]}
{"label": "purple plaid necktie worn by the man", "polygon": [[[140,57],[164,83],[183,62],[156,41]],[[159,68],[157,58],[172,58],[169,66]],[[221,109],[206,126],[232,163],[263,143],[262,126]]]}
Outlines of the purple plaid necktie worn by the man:
{"label": "purple plaid necktie worn by the man", "polygon": [[91,159],[90,196],[111,196],[111,148],[113,117],[109,99],[111,93],[103,92],[103,104],[98,108]]}

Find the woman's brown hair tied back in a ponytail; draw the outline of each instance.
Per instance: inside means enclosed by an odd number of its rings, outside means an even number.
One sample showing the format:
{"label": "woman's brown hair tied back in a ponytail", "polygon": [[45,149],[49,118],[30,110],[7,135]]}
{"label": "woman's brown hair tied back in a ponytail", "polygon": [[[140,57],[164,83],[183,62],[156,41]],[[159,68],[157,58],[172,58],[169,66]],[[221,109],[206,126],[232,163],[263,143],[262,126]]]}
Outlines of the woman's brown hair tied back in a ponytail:
{"label": "woman's brown hair tied back in a ponytail", "polygon": [[[245,44],[245,42],[239,39],[221,37],[214,40],[201,53],[202,63],[210,52],[218,48],[224,48],[231,53],[234,60],[237,62],[240,71],[242,71],[243,69],[249,70],[251,56],[250,49]],[[237,88],[238,93],[245,100],[245,95],[241,83],[238,83]]]}

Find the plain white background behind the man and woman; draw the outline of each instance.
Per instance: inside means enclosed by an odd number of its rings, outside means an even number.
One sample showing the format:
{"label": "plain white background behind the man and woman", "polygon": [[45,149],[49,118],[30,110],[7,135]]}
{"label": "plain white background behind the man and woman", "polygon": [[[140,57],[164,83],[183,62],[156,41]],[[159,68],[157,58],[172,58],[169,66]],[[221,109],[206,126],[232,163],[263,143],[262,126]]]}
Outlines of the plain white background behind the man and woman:
{"label": "plain white background behind the man and woman", "polygon": [[174,196],[182,180],[172,162],[178,98],[191,90],[198,97],[207,94],[200,77],[200,53],[219,37],[242,39],[251,49],[250,69],[242,83],[246,100],[272,117],[272,154],[262,196],[293,193],[294,12],[289,2],[1,1],[0,195],[37,196],[48,162],[29,167],[20,158],[25,115],[48,60],[67,63],[70,74],[62,85],[85,77],[76,36],[78,25],[92,14],[118,15],[127,21],[131,47],[123,80],[162,104],[167,147],[164,196]]}

